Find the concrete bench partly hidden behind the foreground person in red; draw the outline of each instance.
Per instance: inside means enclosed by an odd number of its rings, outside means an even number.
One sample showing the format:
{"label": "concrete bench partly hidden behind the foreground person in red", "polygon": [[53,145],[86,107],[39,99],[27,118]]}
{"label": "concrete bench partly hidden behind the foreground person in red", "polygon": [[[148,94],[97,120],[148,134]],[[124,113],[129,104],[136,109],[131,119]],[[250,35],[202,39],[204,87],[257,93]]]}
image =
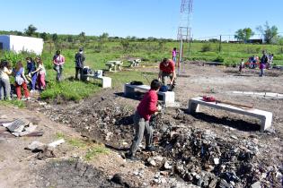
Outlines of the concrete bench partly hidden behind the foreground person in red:
{"label": "concrete bench partly hidden behind the foreground person in red", "polygon": [[[147,85],[130,85],[129,83],[126,83],[125,86],[124,86],[125,96],[133,94],[135,92],[135,90],[148,91],[148,90],[150,90],[150,86],[147,86]],[[164,105],[166,107],[175,107],[175,93],[173,91],[167,91],[167,92],[158,91],[157,94],[162,96],[163,101],[164,101]]]}

